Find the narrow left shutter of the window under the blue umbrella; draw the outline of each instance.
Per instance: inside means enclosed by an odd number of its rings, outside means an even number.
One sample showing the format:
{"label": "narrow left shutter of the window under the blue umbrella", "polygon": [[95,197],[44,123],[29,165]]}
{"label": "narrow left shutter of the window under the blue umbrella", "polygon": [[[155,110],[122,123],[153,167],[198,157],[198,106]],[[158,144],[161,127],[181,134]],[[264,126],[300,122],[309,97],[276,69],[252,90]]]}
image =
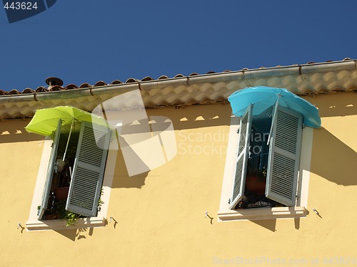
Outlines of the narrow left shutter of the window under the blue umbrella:
{"label": "narrow left shutter of the window under the blue umbrella", "polygon": [[234,184],[231,203],[229,209],[233,209],[244,195],[244,185],[246,183],[246,168],[249,155],[249,141],[251,139],[251,119],[253,106],[250,105],[239,126],[238,150],[236,153],[236,169],[234,170]]}

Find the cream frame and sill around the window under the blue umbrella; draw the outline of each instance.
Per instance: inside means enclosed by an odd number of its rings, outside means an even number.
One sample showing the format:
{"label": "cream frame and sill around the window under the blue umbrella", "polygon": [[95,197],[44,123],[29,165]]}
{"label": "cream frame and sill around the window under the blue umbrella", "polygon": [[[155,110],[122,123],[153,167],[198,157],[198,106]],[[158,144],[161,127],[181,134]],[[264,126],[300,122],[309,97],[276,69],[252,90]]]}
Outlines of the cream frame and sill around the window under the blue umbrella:
{"label": "cream frame and sill around the window under the blue umbrella", "polygon": [[218,210],[218,221],[299,218],[306,216],[313,140],[313,129],[311,127],[303,127],[302,129],[296,205],[271,208],[229,209],[228,199],[231,199],[232,197],[231,193],[233,189],[233,177],[235,175],[236,152],[238,150],[237,132],[240,121],[241,117],[231,116],[226,165],[223,175],[221,201]]}

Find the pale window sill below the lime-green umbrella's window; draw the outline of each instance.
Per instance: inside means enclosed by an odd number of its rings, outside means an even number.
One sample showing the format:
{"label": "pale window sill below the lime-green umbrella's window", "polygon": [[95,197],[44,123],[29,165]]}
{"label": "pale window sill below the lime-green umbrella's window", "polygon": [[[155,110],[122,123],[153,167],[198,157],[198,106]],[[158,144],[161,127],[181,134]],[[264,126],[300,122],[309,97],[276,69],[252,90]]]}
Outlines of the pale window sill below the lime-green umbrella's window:
{"label": "pale window sill below the lime-green umbrella's window", "polygon": [[69,230],[106,225],[104,217],[79,218],[74,226],[66,226],[66,222],[66,220],[26,221],[26,229],[27,231]]}

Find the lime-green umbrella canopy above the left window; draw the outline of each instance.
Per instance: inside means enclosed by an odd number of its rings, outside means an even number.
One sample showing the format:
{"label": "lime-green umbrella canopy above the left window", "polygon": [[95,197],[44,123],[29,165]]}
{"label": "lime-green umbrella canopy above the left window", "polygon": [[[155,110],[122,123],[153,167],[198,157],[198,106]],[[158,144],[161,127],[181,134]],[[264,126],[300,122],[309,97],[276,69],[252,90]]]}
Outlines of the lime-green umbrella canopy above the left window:
{"label": "lime-green umbrella canopy above the left window", "polygon": [[73,125],[75,122],[92,122],[96,125],[109,127],[103,117],[80,110],[79,108],[59,106],[36,110],[34,117],[25,129],[27,132],[53,137],[59,119],[61,119],[62,126]]}

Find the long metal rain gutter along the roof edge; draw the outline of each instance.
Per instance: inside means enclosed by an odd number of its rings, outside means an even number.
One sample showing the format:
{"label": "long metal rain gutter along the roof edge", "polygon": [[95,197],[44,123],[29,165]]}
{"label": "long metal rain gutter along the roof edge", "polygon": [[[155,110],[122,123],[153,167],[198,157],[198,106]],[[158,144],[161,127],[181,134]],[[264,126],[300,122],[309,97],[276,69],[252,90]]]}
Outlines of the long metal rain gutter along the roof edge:
{"label": "long metal rain gutter along the roof edge", "polygon": [[253,78],[278,77],[283,75],[303,75],[316,72],[328,72],[332,70],[357,69],[356,59],[343,61],[330,61],[323,63],[307,63],[293,66],[276,66],[271,68],[242,69],[223,73],[208,73],[203,75],[190,75],[163,80],[136,80],[131,83],[119,83],[112,85],[100,85],[91,88],[76,88],[73,90],[57,90],[44,93],[20,93],[17,95],[0,95],[0,103],[46,101],[54,99],[78,98],[84,95],[101,95],[104,93],[126,93],[131,90],[151,90],[154,88],[177,87],[180,85],[193,85],[200,83],[220,83],[231,80],[249,80]]}

